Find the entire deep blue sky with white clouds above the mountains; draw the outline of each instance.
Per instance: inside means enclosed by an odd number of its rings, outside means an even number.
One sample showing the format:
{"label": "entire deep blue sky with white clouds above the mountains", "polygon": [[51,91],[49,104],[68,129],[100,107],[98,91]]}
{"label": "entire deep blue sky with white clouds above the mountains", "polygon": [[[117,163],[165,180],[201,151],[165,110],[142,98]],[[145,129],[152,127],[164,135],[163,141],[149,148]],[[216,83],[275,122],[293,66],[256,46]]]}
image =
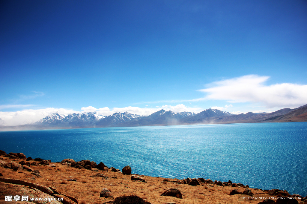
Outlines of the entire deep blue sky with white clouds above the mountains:
{"label": "entire deep blue sky with white clouds above the mountains", "polygon": [[11,124],[307,104],[303,0],[1,1],[0,26],[0,118]]}

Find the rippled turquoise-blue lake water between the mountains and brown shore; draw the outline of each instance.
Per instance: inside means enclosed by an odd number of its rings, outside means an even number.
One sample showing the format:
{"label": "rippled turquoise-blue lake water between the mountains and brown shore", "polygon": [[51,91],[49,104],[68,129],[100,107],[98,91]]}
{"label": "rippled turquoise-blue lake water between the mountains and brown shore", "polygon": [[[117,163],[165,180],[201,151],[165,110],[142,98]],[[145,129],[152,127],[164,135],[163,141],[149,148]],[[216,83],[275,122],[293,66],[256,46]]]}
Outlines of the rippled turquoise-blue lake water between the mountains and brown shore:
{"label": "rippled turquoise-blue lake water between the mountains and brown shore", "polygon": [[89,159],[132,173],[307,194],[307,123],[250,123],[0,132],[0,150]]}

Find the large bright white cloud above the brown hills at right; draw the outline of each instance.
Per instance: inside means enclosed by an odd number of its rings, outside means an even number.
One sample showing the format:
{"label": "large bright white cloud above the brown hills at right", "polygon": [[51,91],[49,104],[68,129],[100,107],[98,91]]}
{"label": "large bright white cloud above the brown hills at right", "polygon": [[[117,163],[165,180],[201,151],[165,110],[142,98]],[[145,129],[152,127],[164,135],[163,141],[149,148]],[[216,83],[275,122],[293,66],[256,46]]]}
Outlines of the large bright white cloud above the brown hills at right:
{"label": "large bright white cloud above the brown hills at right", "polygon": [[201,89],[208,95],[193,100],[226,100],[231,103],[255,102],[267,108],[299,107],[307,104],[307,85],[278,83],[265,85],[269,76],[246,75],[211,84],[212,87]]}

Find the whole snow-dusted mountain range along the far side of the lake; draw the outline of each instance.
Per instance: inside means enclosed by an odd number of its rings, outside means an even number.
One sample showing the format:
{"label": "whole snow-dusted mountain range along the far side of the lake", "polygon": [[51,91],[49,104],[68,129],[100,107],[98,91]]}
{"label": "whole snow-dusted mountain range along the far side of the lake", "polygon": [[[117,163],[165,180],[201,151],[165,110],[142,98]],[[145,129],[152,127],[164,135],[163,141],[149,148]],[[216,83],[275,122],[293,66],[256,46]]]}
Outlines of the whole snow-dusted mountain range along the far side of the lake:
{"label": "whole snow-dusted mountain range along the far side of the lake", "polygon": [[99,127],[131,127],[152,125],[184,125],[184,124],[223,124],[223,123],[257,123],[257,122],[298,122],[307,121],[307,104],[295,109],[284,108],[273,113],[241,113],[238,115],[217,109],[206,109],[200,113],[165,111],[163,109],[149,116],[137,114],[113,113],[109,116],[98,115],[97,112],[72,113],[67,116],[59,113],[33,123],[19,126],[5,126],[0,119],[1,129],[45,129],[45,128],[99,128]]}

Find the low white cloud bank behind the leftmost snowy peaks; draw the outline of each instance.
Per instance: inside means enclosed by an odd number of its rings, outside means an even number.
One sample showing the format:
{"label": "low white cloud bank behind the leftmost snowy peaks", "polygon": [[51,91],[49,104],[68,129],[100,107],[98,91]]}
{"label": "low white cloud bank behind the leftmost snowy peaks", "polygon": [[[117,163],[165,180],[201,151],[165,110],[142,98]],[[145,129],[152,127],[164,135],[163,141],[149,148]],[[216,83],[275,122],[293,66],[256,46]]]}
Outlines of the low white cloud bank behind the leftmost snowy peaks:
{"label": "low white cloud bank behind the leftmost snowy peaks", "polygon": [[80,113],[72,109],[64,108],[45,108],[45,109],[27,109],[16,112],[0,112],[0,118],[5,121],[7,125],[21,125],[26,123],[34,123],[52,113],[59,113],[61,115],[68,115],[70,113]]}

